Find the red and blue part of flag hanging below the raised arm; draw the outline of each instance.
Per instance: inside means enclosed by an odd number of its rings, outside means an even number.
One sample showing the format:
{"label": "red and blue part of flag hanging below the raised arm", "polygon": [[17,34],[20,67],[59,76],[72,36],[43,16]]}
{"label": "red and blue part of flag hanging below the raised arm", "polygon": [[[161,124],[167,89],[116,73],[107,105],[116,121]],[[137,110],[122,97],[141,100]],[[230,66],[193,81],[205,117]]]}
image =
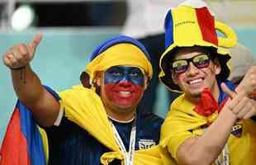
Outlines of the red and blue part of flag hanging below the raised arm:
{"label": "red and blue part of flag hanging below the raised arm", "polygon": [[45,152],[39,128],[31,111],[21,101],[12,113],[0,151],[1,165],[45,165]]}

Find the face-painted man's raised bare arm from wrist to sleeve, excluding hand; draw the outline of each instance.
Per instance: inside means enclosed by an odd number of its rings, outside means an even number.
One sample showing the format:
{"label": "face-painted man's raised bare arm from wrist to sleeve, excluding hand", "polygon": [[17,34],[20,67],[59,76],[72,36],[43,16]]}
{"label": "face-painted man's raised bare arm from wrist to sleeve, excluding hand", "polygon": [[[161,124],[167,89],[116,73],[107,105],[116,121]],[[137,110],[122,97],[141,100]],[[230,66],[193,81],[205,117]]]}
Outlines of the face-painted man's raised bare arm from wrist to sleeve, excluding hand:
{"label": "face-painted man's raised bare arm from wrist to sleeve, excluding hand", "polygon": [[40,79],[29,65],[11,72],[17,97],[30,108],[40,125],[53,125],[59,114],[59,102],[42,86]]}

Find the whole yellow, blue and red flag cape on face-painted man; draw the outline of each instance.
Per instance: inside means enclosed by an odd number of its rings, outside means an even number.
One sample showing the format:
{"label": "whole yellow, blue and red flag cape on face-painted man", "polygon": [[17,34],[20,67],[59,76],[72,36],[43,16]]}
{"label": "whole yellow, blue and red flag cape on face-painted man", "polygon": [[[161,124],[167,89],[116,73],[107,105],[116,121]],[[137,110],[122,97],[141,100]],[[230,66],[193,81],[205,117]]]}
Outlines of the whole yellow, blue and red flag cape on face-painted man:
{"label": "whole yellow, blue and red flag cape on face-painted man", "polygon": [[[46,89],[56,99],[59,100],[59,96],[61,97],[60,105],[64,108],[69,120],[87,130],[95,139],[112,150],[102,155],[102,164],[107,165],[115,158],[123,160],[123,154],[114,139],[102,101],[95,92],[77,86],[60,92],[58,96],[49,87]],[[40,131],[36,121],[33,120],[31,111],[18,101],[3,139],[0,164],[45,165],[48,156],[46,138],[45,133]],[[135,165],[176,164],[173,159],[169,158],[167,151],[159,145],[135,151],[134,163]]]}

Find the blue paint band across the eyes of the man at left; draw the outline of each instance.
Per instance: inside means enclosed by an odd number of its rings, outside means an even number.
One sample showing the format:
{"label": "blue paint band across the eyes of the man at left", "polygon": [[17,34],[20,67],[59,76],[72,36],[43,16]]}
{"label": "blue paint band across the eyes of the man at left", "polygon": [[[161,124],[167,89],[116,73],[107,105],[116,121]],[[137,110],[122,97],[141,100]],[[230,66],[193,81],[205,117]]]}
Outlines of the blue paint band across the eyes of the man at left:
{"label": "blue paint band across the eyes of the man at left", "polygon": [[108,68],[104,73],[104,82],[119,83],[119,82],[132,82],[135,85],[144,86],[144,73],[137,67],[130,66],[114,66]]}

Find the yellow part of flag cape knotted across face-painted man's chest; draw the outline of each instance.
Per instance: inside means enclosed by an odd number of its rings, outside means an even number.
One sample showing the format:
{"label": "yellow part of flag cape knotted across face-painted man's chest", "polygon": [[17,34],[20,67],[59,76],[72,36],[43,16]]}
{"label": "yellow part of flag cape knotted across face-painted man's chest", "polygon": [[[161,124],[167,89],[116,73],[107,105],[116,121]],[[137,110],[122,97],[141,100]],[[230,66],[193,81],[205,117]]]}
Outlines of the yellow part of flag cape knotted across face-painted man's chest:
{"label": "yellow part of flag cape knotted across face-painted man's chest", "polygon": [[[92,89],[81,86],[60,92],[59,96],[62,99],[60,102],[64,108],[65,116],[112,150],[112,152],[102,155],[102,164],[107,165],[116,158],[121,159],[123,163],[123,153],[116,144],[101,98]],[[136,165],[174,164],[172,161],[168,158],[168,153],[159,148],[159,145],[135,151],[134,163]]]}

